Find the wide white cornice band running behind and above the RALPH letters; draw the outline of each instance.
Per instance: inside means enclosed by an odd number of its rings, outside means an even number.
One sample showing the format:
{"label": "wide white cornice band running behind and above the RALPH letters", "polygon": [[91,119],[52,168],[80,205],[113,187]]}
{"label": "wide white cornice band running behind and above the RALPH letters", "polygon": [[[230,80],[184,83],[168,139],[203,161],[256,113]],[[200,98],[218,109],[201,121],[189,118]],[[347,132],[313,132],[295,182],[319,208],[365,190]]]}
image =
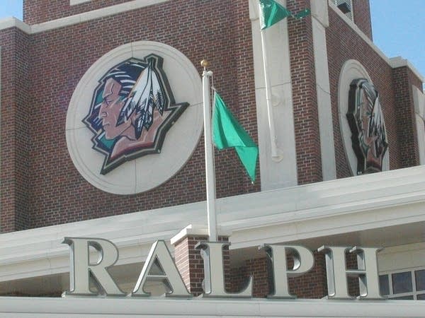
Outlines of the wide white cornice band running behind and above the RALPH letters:
{"label": "wide white cornice band running behind and above the RALPH letters", "polygon": [[[188,223],[207,228],[205,211],[203,201],[1,234],[0,281],[69,271],[65,236],[111,240],[120,249],[118,265],[144,261],[155,240],[170,240]],[[217,199],[217,225],[231,232],[230,248],[238,249],[410,223],[425,227],[424,211],[425,166],[417,166]]]}

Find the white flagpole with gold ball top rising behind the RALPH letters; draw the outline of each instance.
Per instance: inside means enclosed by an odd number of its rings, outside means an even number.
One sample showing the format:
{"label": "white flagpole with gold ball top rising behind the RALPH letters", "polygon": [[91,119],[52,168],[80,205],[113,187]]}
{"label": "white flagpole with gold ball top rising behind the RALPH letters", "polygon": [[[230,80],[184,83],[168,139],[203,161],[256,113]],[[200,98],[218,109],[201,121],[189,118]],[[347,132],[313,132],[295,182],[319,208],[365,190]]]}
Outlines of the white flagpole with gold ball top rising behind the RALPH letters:
{"label": "white flagpole with gold ball top rising behind the RALPH letters", "polygon": [[215,216],[215,170],[214,170],[214,149],[212,148],[211,137],[211,97],[210,97],[210,76],[212,71],[207,71],[208,61],[201,61],[204,71],[202,74],[203,86],[203,111],[204,111],[204,139],[205,139],[205,175],[207,188],[207,216],[208,216],[208,236],[211,242],[217,241],[217,220]]}

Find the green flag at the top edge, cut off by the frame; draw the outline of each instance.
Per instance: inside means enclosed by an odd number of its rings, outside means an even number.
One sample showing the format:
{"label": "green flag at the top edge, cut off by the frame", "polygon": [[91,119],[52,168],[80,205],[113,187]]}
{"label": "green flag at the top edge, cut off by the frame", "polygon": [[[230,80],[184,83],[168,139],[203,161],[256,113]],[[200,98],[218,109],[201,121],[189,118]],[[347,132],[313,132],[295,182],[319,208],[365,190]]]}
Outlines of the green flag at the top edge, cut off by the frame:
{"label": "green flag at the top edge, cut off by the frame", "polygon": [[300,19],[308,16],[310,10],[305,9],[297,14],[293,14],[284,6],[278,4],[274,0],[259,0],[260,1],[260,23],[261,30],[271,27],[271,25],[278,23],[280,20],[283,20],[287,16],[292,16],[293,18]]}

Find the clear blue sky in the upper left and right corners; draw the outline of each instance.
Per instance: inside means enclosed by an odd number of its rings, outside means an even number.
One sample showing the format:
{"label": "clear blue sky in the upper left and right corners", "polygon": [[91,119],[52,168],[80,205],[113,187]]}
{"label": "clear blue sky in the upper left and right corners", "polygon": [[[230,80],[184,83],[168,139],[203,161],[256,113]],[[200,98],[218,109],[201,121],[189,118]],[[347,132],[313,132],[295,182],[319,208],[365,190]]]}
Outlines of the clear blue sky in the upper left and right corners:
{"label": "clear blue sky in the upper left and right corners", "polygon": [[[370,11],[375,45],[425,76],[425,0],[370,0]],[[0,0],[0,19],[8,16],[22,19],[21,0]]]}

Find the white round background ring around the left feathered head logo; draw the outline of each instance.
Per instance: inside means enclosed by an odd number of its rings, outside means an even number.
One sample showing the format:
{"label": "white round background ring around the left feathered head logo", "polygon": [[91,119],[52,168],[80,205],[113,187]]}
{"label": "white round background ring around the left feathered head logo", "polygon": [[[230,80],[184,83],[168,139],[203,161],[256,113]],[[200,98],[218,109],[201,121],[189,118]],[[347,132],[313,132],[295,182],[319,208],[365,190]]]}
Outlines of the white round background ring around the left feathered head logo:
{"label": "white round background ring around the left feathered head logo", "polygon": [[[188,102],[166,134],[159,154],[145,155],[101,175],[104,155],[95,151],[94,134],[82,119],[101,78],[109,69],[126,59],[143,59],[149,54],[164,59],[163,69],[177,103]],[[202,82],[196,67],[179,50],[160,42],[139,41],[116,47],[98,59],[82,76],[69,102],[66,138],[69,155],[87,182],[112,194],[137,194],[158,187],[176,175],[191,158],[203,131]]]}

